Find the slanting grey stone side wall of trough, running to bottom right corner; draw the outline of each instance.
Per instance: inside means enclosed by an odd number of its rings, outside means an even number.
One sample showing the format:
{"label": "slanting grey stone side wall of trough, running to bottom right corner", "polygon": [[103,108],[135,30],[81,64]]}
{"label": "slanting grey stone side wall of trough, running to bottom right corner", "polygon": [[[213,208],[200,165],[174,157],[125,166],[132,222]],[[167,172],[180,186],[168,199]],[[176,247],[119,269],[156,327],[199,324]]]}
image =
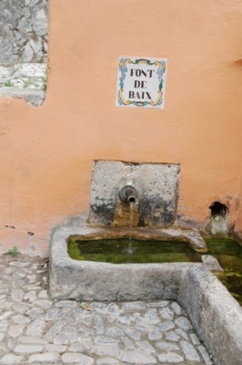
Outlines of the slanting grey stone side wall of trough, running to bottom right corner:
{"label": "slanting grey stone side wall of trough, running to bottom right corner", "polygon": [[242,308],[216,276],[191,267],[181,280],[178,301],[220,365],[237,365],[242,354]]}

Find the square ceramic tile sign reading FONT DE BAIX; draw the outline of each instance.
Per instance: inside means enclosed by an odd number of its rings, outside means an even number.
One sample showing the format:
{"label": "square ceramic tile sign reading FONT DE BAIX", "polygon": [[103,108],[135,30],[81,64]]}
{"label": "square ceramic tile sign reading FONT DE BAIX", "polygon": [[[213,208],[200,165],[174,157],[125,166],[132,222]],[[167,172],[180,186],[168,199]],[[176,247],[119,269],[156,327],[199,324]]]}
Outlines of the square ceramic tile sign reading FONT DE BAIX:
{"label": "square ceramic tile sign reading FONT DE BAIX", "polygon": [[119,57],[117,107],[164,108],[166,58]]}

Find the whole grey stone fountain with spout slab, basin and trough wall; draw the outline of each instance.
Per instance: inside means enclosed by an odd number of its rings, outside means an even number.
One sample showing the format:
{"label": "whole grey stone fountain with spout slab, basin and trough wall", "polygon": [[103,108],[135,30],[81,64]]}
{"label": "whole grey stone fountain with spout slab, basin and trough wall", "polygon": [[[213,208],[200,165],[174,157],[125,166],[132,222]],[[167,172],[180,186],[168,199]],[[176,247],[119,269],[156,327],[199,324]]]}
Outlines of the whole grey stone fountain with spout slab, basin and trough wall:
{"label": "whole grey stone fountain with spout slab, basin and trough wall", "polygon": [[186,308],[214,363],[237,365],[242,310],[211,273],[221,270],[213,256],[203,255],[202,263],[116,265],[78,261],[67,253],[67,241],[76,235],[86,240],[186,241],[206,252],[197,230],[176,224],[179,171],[178,164],[95,162],[89,213],[67,219],[53,231],[50,294],[56,300],[176,300]]}

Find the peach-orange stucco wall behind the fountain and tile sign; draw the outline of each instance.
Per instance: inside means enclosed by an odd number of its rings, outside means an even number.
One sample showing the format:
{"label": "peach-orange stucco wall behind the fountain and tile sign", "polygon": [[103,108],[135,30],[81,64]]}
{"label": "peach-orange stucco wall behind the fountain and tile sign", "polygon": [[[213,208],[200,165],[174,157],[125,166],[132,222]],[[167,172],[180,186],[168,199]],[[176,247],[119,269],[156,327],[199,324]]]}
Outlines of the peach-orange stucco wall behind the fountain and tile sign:
{"label": "peach-orange stucco wall behind the fountain and tile sign", "polygon": [[[45,254],[93,160],[180,163],[177,213],[207,224],[218,200],[242,232],[241,35],[239,0],[50,0],[44,105],[0,99],[2,251]],[[167,58],[164,110],[116,107],[123,55]]]}

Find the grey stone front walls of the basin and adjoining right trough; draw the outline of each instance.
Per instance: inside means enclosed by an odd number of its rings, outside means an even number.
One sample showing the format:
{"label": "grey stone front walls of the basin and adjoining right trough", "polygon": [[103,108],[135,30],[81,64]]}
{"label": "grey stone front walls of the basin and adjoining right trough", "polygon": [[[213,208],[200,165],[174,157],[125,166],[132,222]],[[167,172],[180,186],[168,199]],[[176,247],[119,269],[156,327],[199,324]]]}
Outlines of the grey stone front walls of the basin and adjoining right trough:
{"label": "grey stone front walls of the basin and adjoining right trough", "polygon": [[215,365],[242,358],[242,308],[205,263],[108,264],[73,260],[66,240],[88,227],[55,229],[50,249],[51,297],[79,301],[176,300],[187,310]]}

